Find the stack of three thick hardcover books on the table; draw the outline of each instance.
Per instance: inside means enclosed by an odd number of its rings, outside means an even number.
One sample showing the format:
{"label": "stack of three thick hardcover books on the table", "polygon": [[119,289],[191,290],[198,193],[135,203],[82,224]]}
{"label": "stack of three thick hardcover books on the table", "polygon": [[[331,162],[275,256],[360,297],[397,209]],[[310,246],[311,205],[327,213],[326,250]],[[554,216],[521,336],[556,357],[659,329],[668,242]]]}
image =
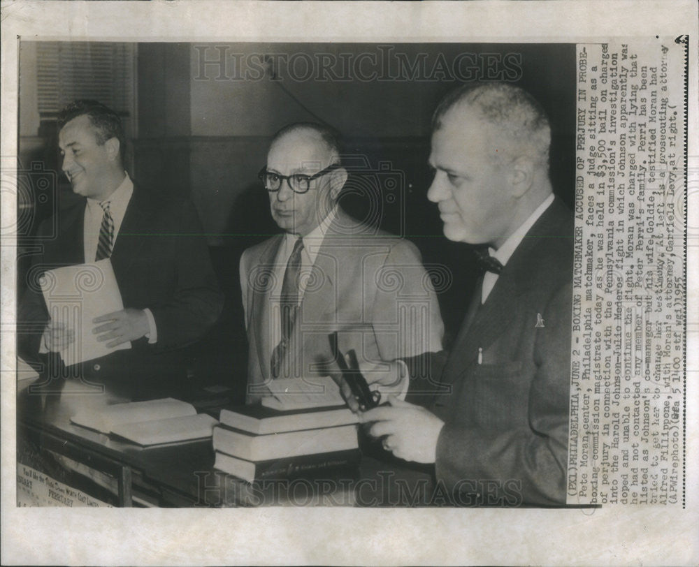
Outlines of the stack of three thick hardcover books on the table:
{"label": "stack of three thick hardcover books on the table", "polygon": [[357,416],[347,406],[221,410],[215,468],[247,482],[291,478],[359,462]]}

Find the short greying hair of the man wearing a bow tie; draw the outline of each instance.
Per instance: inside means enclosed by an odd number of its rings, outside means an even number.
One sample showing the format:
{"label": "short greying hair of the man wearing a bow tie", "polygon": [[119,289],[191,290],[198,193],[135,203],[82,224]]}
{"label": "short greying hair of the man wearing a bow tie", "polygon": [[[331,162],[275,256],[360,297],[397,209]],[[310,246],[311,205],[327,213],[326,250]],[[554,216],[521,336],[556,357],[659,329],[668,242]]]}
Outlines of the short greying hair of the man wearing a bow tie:
{"label": "short greying hair of the man wearing a bow tie", "polygon": [[[506,82],[465,84],[450,91],[432,115],[432,131],[442,127],[442,120],[457,105],[472,108],[493,126],[510,154],[528,155],[543,165],[549,162],[551,126],[546,111],[527,91]],[[500,153],[493,154],[500,159]]]}

